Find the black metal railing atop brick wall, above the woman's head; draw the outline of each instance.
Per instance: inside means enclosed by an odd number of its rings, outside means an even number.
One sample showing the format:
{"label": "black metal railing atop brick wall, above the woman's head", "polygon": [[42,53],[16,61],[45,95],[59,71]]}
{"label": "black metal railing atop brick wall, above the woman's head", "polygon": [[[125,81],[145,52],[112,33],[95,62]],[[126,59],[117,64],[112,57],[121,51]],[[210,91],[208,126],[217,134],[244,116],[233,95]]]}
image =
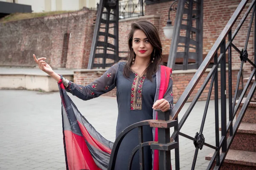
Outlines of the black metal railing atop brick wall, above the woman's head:
{"label": "black metal railing atop brick wall, above the woman's head", "polygon": [[119,1],[119,19],[144,15],[143,0]]}

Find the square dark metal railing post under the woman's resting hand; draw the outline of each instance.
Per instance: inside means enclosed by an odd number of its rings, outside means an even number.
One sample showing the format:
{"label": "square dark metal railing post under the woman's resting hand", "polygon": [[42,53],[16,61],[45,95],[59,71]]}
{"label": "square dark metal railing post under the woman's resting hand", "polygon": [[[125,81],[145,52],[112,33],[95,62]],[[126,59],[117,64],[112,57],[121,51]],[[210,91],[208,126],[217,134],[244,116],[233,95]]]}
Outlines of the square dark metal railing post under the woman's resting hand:
{"label": "square dark metal railing post under the woman's resting hand", "polygon": [[170,150],[178,147],[177,142],[170,141],[170,127],[177,127],[176,120],[169,120],[170,112],[157,111],[159,123],[150,125],[158,127],[158,142],[151,144],[151,149],[159,150],[159,170],[171,169],[171,152]]}

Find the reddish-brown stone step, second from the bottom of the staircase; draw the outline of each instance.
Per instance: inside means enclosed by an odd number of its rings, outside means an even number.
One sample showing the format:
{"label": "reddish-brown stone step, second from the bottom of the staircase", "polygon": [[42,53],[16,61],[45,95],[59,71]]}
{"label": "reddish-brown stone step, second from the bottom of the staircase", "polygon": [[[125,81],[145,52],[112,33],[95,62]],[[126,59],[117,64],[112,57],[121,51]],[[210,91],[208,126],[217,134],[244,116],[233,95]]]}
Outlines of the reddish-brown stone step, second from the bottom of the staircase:
{"label": "reddish-brown stone step, second from the bottom of the staircase", "polygon": [[230,149],[256,152],[256,124],[242,122]]}

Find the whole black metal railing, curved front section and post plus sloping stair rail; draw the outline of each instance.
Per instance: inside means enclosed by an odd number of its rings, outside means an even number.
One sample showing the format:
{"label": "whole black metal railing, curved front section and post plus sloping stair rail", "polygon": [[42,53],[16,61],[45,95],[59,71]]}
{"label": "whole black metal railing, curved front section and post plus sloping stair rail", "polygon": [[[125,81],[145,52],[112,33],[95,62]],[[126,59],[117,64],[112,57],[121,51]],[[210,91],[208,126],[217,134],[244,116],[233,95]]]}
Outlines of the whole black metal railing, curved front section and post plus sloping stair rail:
{"label": "whole black metal railing, curved front section and post plus sloping stair rail", "polygon": [[[170,115],[169,113],[163,113],[158,112],[158,120],[145,120],[143,122],[138,122],[134,125],[131,125],[127,127],[120,135],[117,137],[114,145],[113,150],[111,153],[111,160],[108,169],[113,170],[114,164],[117,156],[117,150],[119,149],[120,143],[122,142],[122,139],[124,136],[131,131],[134,128],[139,129],[139,139],[140,144],[134,148],[133,152],[131,153],[130,157],[130,165],[131,161],[133,159],[134,153],[136,153],[137,150],[139,150],[140,153],[140,170],[143,170],[143,147],[151,145],[151,149],[157,149],[160,151],[160,163],[159,163],[159,169],[160,170],[167,170],[170,169],[171,166],[171,159],[170,159],[170,150],[175,149],[175,167],[176,169],[179,169],[179,136],[183,136],[187,139],[192,140],[192,142],[195,145],[195,154],[194,159],[192,161],[191,169],[195,169],[195,164],[197,161],[197,156],[199,149],[203,149],[203,146],[207,146],[209,148],[212,148],[215,150],[212,159],[209,161],[209,165],[207,167],[207,170],[214,169],[219,170],[224,163],[224,159],[227,156],[227,153],[230,149],[230,146],[234,140],[234,137],[237,133],[238,127],[241,124],[241,121],[243,119],[243,116],[245,114],[245,111],[247,110],[247,107],[253,97],[253,94],[256,90],[256,82],[253,80],[253,77],[256,77],[256,43],[254,43],[254,61],[251,61],[248,58],[247,53],[247,45],[248,40],[250,37],[251,27],[253,26],[253,18],[254,18],[254,42],[256,42],[256,0],[253,0],[250,3],[250,6],[247,8],[247,11],[244,12],[244,16],[242,17],[240,23],[234,29],[234,32],[232,33],[232,28],[236,21],[238,20],[239,16],[241,15],[242,11],[246,7],[248,3],[248,0],[241,0],[239,6],[236,8],[236,11],[233,13],[232,17],[228,21],[227,25],[225,26],[224,30],[221,32],[220,36],[212,46],[212,49],[207,54],[207,57],[204,59],[200,67],[198,68],[198,71],[195,73],[192,80],[189,82],[189,85],[186,87],[183,94],[180,96],[179,100],[177,101],[176,105],[172,109]],[[246,20],[247,16],[251,12],[251,19],[250,19],[250,25],[247,32],[247,38],[245,41],[244,48],[242,50],[239,50],[238,47],[234,44],[233,40],[236,37],[236,35],[239,33],[240,28],[243,26],[244,21]],[[227,39],[227,43],[226,43]],[[235,51],[240,55],[241,59],[241,67],[237,76],[237,82],[236,82],[236,89],[234,96],[232,95],[233,89],[232,89],[232,49],[235,49]],[[220,54],[218,54],[218,51],[220,50]],[[226,52],[228,52],[228,77],[226,77]],[[206,78],[204,78],[204,82],[201,85],[201,88],[198,90],[197,94],[195,95],[193,101],[189,105],[189,108],[185,111],[184,116],[181,118],[180,122],[177,125],[177,117],[180,113],[181,109],[183,108],[183,105],[186,103],[189,96],[192,94],[192,91],[200,81],[201,77],[205,73],[207,66],[210,64],[210,62],[214,59],[214,65],[209,71],[209,74]],[[241,81],[241,75],[242,75],[242,69],[244,62],[248,62],[253,66],[253,71],[250,74],[250,77],[241,93],[241,96],[238,98],[238,90],[239,90],[239,83]],[[218,80],[218,67],[220,66],[220,80]],[[227,96],[227,87],[226,87],[226,81],[228,80],[228,89],[229,93]],[[220,100],[221,100],[221,136],[219,136],[219,97],[218,97],[218,91],[219,86],[218,82],[221,82],[220,87]],[[252,82],[253,81],[253,82]],[[206,88],[207,84],[210,84],[208,97],[204,109],[204,114],[202,117],[201,127],[199,130],[199,133],[196,133],[195,137],[186,135],[184,133],[181,133],[180,130],[183,127],[183,125],[186,123],[186,119],[188,118],[189,114],[191,113],[192,109],[194,108],[196,102],[198,101],[199,97],[203,93],[204,89]],[[234,120],[237,111],[239,109],[239,106],[241,105],[242,99],[244,99],[244,96],[247,93],[247,89],[251,85],[250,91],[248,92],[246,99],[244,100],[244,104],[241,107],[241,111],[238,113],[236,121]],[[203,130],[204,130],[204,124],[206,121],[207,111],[209,107],[209,101],[212,94],[212,90],[214,89],[214,101],[215,101],[215,145],[208,144],[205,142]],[[228,98],[228,105],[229,105],[229,111],[227,111],[227,98]],[[237,101],[237,102],[236,102]],[[237,103],[237,104],[236,104]],[[227,116],[228,116],[228,122],[227,122]],[[151,127],[158,127],[159,128],[159,142],[143,142],[143,134],[142,134],[142,128],[145,125],[150,125]],[[174,133],[172,133],[172,136],[169,140],[170,131],[168,130],[170,127],[174,127]],[[173,142],[171,142],[173,141]],[[215,163],[215,165],[214,165]],[[214,165],[214,167],[212,167]],[[131,166],[129,166],[131,169]]]}

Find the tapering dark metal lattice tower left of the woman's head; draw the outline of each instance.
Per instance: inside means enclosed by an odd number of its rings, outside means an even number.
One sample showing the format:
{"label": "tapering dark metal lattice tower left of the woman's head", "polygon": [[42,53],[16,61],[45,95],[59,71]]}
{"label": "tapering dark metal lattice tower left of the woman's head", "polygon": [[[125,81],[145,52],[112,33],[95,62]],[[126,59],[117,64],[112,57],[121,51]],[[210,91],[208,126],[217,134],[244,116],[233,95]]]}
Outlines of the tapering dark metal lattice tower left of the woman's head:
{"label": "tapering dark metal lattice tower left of the woman's head", "polygon": [[[93,33],[93,42],[90,50],[89,63],[87,67],[88,69],[111,67],[114,63],[120,60],[118,45],[118,20],[118,0],[100,0]],[[110,26],[111,24],[112,26]],[[113,34],[109,33],[111,28],[113,28]],[[103,36],[104,40],[100,40],[99,36]],[[111,39],[113,40],[112,43]],[[96,58],[102,59],[102,62],[95,63],[94,59]],[[110,61],[107,63],[107,59],[111,59],[112,62]]]}

